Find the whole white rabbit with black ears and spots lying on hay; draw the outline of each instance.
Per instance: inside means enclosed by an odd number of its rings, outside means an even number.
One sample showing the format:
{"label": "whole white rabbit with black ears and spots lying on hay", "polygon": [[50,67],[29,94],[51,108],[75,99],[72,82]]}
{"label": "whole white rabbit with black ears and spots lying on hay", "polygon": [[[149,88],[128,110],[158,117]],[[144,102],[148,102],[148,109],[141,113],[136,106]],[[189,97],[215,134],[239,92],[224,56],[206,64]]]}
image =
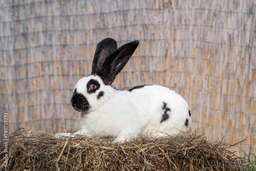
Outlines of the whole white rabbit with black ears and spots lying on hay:
{"label": "whole white rabbit with black ears and spots lying on hay", "polygon": [[191,132],[188,104],[175,91],[157,85],[136,86],[126,91],[111,86],[138,45],[138,40],[119,48],[112,38],[99,42],[91,76],[77,82],[71,98],[73,108],[81,112],[82,129],[55,137],[111,136],[115,143],[131,141],[141,132],[158,137]]}

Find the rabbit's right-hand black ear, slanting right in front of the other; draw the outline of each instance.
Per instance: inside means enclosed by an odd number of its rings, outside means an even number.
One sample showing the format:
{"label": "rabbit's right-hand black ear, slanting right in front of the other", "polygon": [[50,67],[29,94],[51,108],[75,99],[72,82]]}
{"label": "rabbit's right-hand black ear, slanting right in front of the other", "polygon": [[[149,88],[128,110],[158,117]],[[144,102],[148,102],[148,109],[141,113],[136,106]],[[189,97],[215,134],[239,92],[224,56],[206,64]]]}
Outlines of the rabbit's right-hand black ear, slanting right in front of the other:
{"label": "rabbit's right-hand black ear, slanting right in front of the other", "polygon": [[138,45],[138,40],[129,42],[106,57],[99,75],[105,84],[111,84],[114,81],[116,75],[123,69]]}

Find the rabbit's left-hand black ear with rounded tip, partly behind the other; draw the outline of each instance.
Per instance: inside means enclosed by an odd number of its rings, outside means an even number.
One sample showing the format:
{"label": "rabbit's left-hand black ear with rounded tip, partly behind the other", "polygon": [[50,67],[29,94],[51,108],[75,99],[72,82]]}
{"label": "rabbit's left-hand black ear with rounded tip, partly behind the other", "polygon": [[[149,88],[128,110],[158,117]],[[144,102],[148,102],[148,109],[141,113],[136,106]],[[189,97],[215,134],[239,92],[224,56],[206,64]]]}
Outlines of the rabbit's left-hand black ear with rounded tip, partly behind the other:
{"label": "rabbit's left-hand black ear with rounded tip, partly behind the other", "polygon": [[99,42],[93,58],[92,75],[99,75],[105,59],[116,49],[117,43],[113,38],[105,38]]}

